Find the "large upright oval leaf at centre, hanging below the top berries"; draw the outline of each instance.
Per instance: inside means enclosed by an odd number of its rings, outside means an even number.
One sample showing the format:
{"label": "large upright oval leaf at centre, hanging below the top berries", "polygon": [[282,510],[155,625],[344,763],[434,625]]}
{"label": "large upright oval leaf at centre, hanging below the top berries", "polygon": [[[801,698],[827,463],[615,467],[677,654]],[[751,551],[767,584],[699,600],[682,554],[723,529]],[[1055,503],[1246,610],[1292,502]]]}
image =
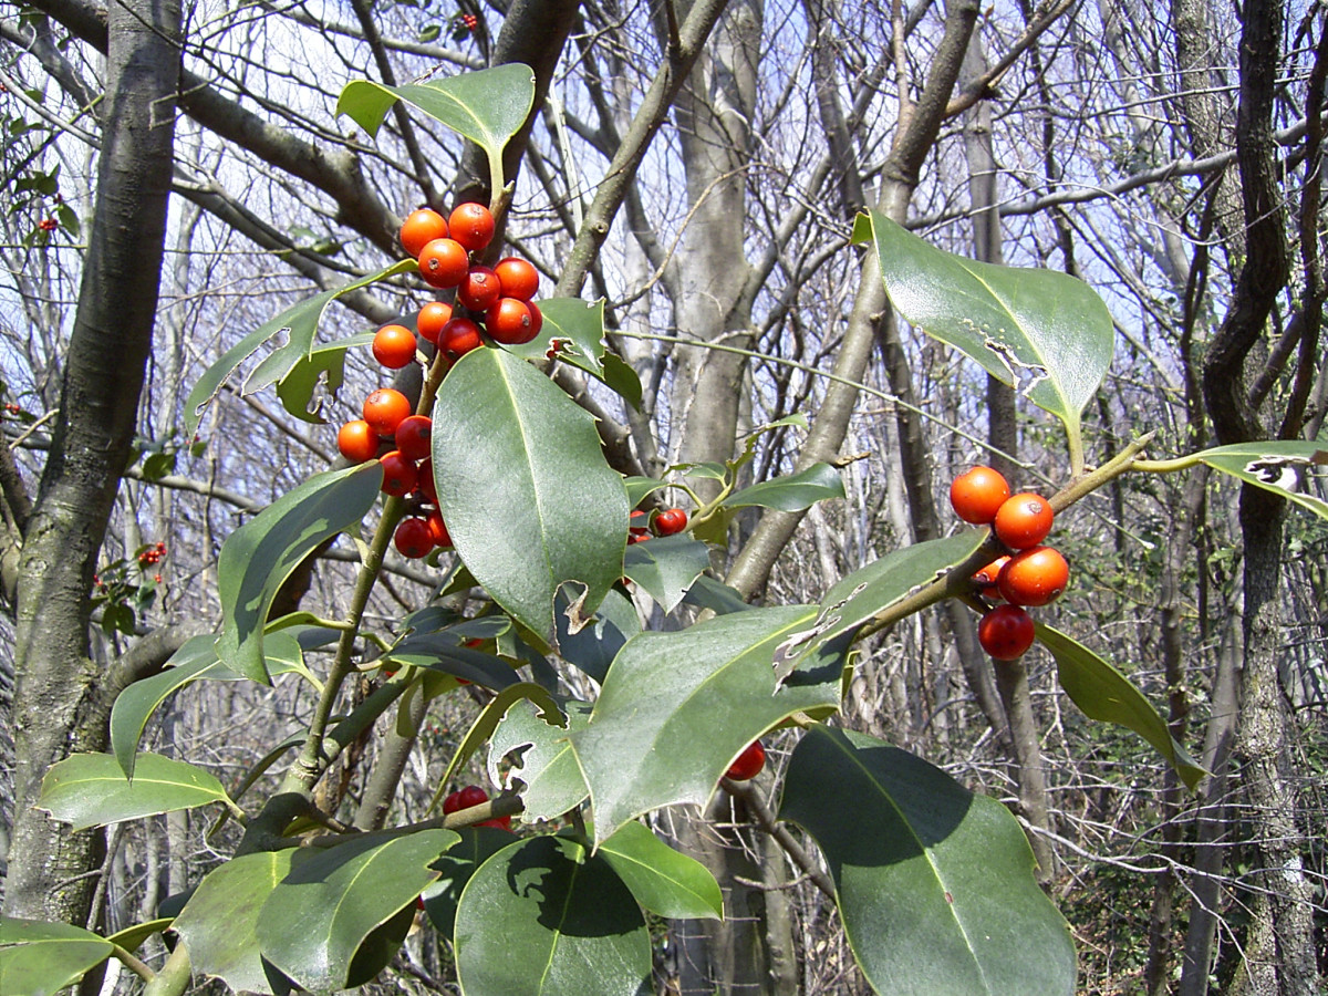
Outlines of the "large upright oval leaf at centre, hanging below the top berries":
{"label": "large upright oval leaf at centre, hanging below the top berries", "polygon": [[433,409],[438,507],[457,554],[494,602],[546,643],[554,595],[586,587],[594,612],[622,576],[627,493],[595,420],[525,360],[474,349]]}

